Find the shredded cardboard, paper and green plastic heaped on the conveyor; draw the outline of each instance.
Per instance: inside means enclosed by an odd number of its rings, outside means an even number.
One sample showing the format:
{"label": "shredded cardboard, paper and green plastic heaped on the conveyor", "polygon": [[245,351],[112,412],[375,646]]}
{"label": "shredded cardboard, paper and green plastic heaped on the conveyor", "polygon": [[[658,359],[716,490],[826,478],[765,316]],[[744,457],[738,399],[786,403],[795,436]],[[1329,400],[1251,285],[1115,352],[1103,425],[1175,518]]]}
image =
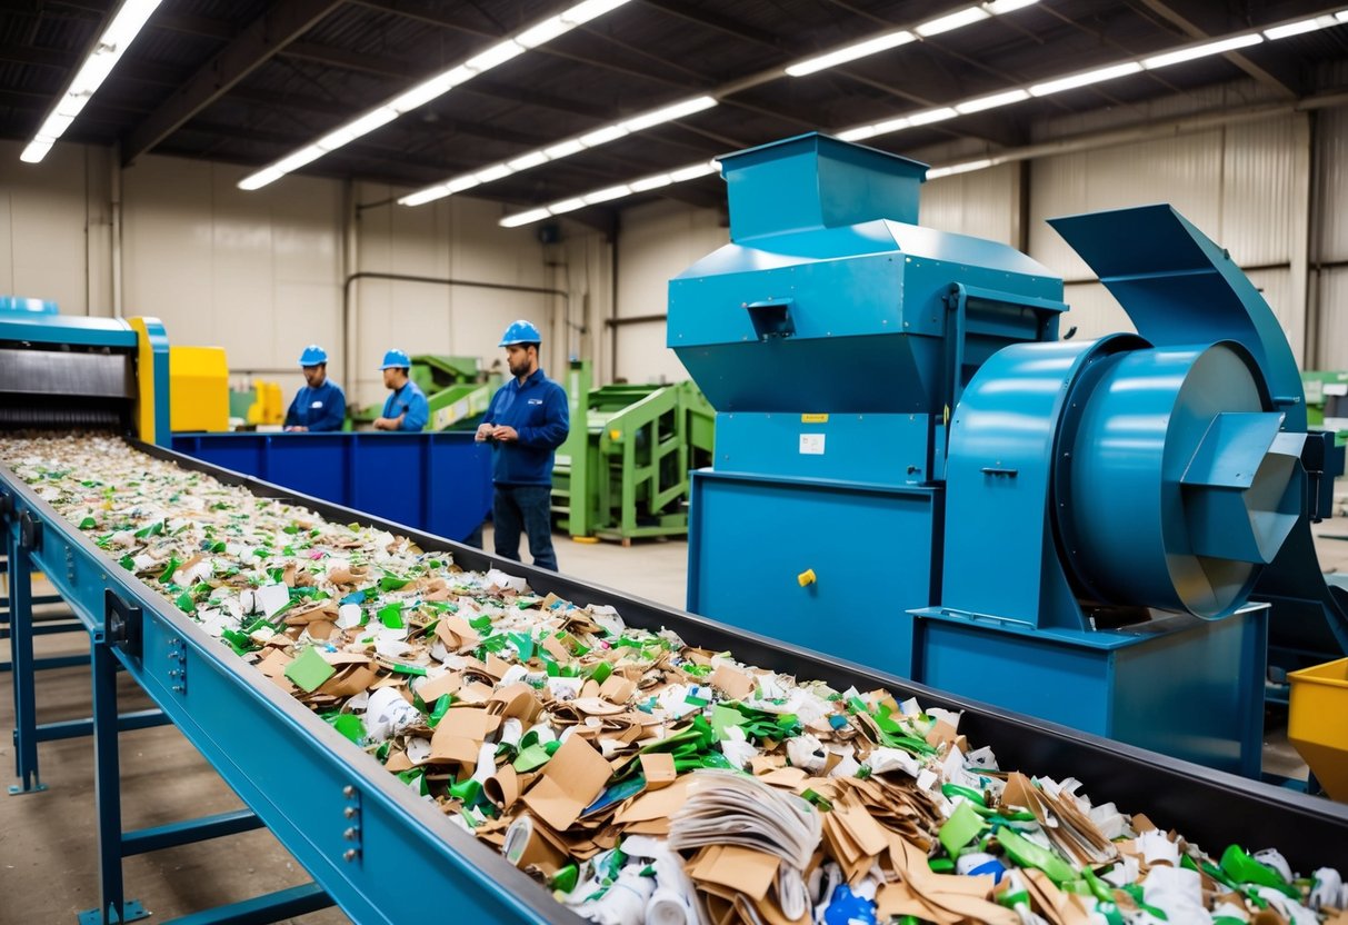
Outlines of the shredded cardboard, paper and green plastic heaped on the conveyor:
{"label": "shredded cardboard, paper and green plastic heaped on the conveyor", "polygon": [[1335,870],[1208,854],[999,769],[957,713],[627,627],[112,437],[0,437],[0,461],[593,921],[1348,921]]}

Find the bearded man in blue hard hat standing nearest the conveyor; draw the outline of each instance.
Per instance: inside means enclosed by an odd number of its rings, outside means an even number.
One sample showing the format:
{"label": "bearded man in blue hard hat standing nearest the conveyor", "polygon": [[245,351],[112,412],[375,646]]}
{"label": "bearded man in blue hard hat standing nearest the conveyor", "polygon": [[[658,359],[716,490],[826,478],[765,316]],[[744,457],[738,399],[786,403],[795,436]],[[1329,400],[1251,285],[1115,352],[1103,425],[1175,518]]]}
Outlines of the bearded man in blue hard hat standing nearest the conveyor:
{"label": "bearded man in blue hard hat standing nearest the conveyor", "polygon": [[538,347],[543,336],[528,321],[506,329],[511,379],[487,406],[479,441],[492,441],[492,520],[496,554],[519,561],[519,534],[528,535],[534,565],[557,570],[553,550],[553,453],[566,440],[566,392],[543,375]]}

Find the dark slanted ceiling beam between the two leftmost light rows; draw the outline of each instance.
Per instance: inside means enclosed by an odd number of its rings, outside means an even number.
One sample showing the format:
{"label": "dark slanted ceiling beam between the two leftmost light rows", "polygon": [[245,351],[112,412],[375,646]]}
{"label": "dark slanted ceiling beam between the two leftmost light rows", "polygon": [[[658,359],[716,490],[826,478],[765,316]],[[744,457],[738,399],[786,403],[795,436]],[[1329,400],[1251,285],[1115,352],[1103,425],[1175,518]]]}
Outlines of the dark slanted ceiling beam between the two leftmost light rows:
{"label": "dark slanted ceiling beam between the two leftmost light rows", "polygon": [[253,20],[123,139],[123,165],[154,148],[174,129],[229,92],[342,0],[282,0]]}

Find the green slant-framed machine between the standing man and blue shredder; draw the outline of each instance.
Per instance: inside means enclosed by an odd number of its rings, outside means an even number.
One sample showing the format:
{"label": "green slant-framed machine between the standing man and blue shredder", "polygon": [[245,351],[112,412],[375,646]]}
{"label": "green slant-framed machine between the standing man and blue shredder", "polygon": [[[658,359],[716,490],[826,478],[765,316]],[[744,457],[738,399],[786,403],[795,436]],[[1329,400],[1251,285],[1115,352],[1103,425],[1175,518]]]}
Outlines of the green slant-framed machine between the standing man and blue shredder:
{"label": "green slant-framed machine between the standing man and blue shredder", "polygon": [[687,473],[710,461],[716,417],[697,386],[590,388],[589,361],[580,360],[566,395],[572,431],[553,468],[558,529],[624,546],[686,534]]}

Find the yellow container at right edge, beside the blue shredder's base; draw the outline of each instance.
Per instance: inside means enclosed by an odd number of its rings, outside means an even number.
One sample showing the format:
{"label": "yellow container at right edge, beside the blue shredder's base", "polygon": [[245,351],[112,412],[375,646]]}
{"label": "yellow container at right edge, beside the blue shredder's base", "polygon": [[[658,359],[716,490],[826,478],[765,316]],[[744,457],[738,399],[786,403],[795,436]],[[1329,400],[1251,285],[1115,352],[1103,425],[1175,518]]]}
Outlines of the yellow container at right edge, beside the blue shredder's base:
{"label": "yellow container at right edge, beside the blue shredder's base", "polygon": [[1287,740],[1333,800],[1348,802],[1348,658],[1289,672]]}

